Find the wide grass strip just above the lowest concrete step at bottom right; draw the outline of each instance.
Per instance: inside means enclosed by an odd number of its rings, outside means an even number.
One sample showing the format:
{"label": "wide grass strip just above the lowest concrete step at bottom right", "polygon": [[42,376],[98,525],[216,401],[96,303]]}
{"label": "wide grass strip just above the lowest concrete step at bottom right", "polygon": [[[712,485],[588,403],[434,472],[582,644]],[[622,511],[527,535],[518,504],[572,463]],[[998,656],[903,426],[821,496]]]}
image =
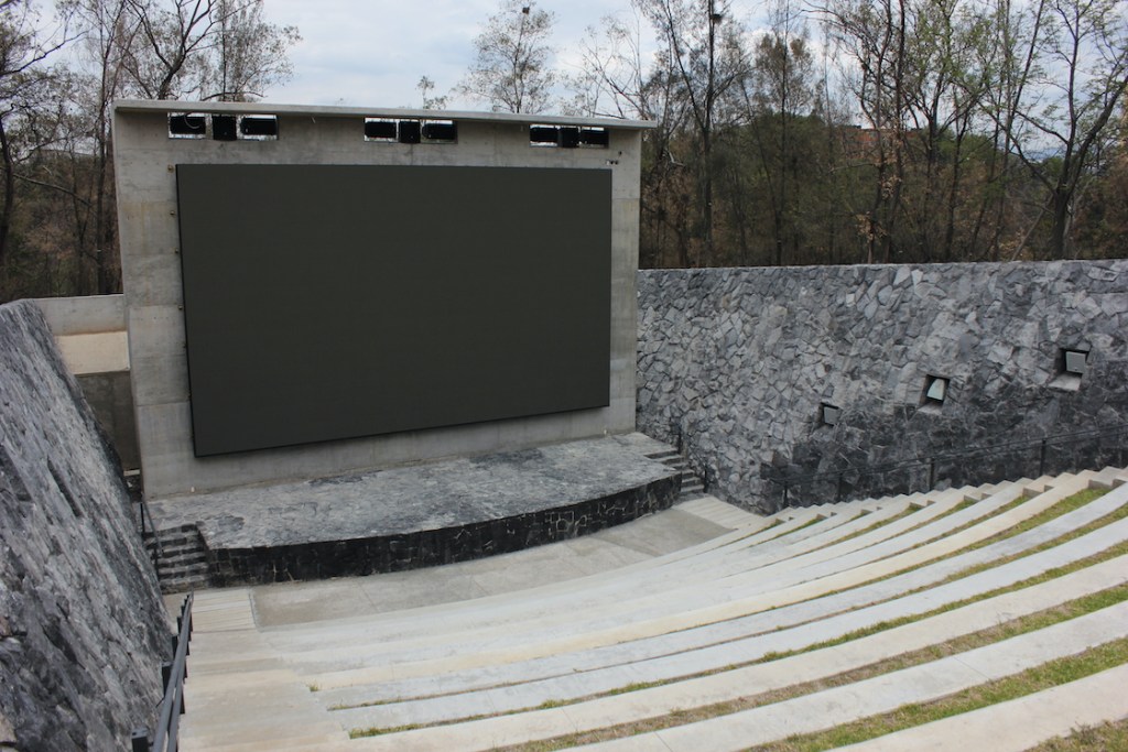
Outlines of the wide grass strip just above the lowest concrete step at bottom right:
{"label": "wide grass strip just above the lowest concrete step at bottom right", "polygon": [[891,713],[843,724],[826,732],[792,736],[781,742],[749,749],[755,752],[821,752],[822,750],[832,750],[1033,695],[1125,663],[1128,663],[1128,638],[1120,638],[1077,655],[1056,658],[1013,676],[979,684],[932,702],[913,702]]}

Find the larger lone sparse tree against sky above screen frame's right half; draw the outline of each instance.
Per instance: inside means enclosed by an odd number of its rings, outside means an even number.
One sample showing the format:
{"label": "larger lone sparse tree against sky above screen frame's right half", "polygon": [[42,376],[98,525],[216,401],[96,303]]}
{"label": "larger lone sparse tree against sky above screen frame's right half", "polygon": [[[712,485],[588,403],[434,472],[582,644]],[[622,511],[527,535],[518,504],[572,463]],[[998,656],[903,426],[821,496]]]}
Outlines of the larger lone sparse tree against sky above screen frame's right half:
{"label": "larger lone sparse tree against sky above screen frame's right half", "polygon": [[532,0],[503,0],[474,37],[474,65],[458,86],[494,112],[541,113],[549,104],[556,72],[548,38],[554,16]]}

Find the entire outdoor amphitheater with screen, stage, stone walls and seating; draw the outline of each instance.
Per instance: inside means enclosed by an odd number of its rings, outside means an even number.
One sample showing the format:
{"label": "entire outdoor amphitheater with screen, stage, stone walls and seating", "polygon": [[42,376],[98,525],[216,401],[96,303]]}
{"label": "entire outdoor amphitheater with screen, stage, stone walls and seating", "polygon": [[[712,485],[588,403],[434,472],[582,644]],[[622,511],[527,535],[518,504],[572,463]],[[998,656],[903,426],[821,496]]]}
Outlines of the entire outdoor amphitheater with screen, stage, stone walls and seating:
{"label": "entire outdoor amphitheater with screen, stage, stone walls and seating", "polygon": [[0,306],[0,749],[1128,749],[1128,262],[637,271],[645,124],[184,107]]}

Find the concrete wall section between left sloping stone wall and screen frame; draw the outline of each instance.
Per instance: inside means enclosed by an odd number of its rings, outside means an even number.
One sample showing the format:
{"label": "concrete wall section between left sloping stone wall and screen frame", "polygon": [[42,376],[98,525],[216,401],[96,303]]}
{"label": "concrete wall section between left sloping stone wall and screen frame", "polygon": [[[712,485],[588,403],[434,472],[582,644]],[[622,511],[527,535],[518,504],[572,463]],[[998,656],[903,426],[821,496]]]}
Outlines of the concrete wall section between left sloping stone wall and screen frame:
{"label": "concrete wall section between left sloping stone wall and screen frame", "polygon": [[68,370],[126,470],[141,467],[130,382],[125,297],[39,298]]}

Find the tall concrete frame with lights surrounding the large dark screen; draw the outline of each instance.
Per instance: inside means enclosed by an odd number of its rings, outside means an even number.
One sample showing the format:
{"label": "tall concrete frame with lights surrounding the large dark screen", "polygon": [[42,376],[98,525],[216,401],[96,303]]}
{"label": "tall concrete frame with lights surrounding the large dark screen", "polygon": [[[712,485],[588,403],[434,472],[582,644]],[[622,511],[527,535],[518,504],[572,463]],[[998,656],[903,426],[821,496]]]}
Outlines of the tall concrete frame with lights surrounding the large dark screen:
{"label": "tall concrete frame with lights surrounding the large dark screen", "polygon": [[[271,115],[277,139],[173,138],[169,116]],[[457,124],[455,143],[364,139],[369,118]],[[530,125],[597,129],[606,147],[544,148]],[[444,457],[629,433],[635,425],[635,271],[641,134],[651,123],[496,113],[265,104],[120,101],[114,108],[118,232],[141,466],[149,497],[316,478]],[[562,140],[563,141],[563,140]],[[610,206],[608,407],[196,458],[192,441],[177,165],[390,165],[606,170]]]}

